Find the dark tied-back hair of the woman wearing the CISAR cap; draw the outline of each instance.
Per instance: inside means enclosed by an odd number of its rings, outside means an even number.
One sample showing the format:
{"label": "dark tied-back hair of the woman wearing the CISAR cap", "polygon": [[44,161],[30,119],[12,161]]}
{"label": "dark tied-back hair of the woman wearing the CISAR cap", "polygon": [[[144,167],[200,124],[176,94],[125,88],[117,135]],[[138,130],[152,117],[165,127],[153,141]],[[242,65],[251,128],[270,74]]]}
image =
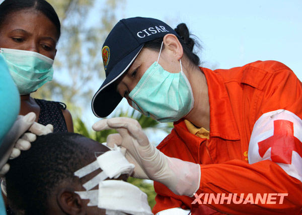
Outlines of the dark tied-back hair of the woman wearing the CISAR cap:
{"label": "dark tied-back hair of the woman wearing the CISAR cap", "polygon": [[[179,42],[183,47],[184,54],[188,57],[191,63],[193,63],[195,66],[198,66],[200,64],[200,60],[199,57],[193,52],[193,48],[195,44],[197,44],[199,47],[200,45],[190,37],[191,34],[189,33],[186,24],[181,23],[174,30],[180,37]],[[163,42],[163,37],[153,41],[146,42],[144,44],[144,48],[150,48],[159,51],[161,49],[162,42]]]}

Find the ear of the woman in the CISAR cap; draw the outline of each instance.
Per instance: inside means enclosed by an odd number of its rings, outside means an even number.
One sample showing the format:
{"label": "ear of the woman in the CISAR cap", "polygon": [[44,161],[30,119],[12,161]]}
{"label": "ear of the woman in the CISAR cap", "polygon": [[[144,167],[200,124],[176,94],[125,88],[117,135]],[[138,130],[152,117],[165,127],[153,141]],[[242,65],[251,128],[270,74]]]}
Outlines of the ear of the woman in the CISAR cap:
{"label": "ear of the woman in the CISAR cap", "polygon": [[165,49],[171,51],[177,57],[177,60],[182,58],[184,54],[183,47],[174,34],[166,34],[163,41]]}

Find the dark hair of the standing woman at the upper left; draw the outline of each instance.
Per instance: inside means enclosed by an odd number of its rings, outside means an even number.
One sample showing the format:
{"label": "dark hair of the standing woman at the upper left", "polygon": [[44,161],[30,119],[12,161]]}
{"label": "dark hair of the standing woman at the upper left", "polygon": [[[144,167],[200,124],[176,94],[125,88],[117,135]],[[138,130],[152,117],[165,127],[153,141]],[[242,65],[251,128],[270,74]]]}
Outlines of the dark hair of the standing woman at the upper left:
{"label": "dark hair of the standing woman at the upper left", "polygon": [[10,14],[25,9],[35,9],[44,14],[55,25],[57,39],[60,38],[60,20],[53,7],[45,0],[5,0],[0,5],[0,26],[6,21]]}

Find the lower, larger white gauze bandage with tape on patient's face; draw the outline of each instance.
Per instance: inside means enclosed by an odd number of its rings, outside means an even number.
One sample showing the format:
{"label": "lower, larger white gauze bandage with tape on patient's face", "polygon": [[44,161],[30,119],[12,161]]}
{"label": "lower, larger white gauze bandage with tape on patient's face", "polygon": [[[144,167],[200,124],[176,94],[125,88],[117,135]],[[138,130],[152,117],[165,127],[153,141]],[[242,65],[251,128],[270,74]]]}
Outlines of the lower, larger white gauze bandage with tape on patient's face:
{"label": "lower, larger white gauze bandage with tape on patient's face", "polygon": [[[148,205],[147,195],[138,187],[125,181],[106,180],[99,183],[99,190],[76,193],[78,193],[82,199],[90,200],[88,206],[104,208],[108,215],[120,214],[119,212],[134,215],[152,214]],[[98,201],[95,199],[98,199]]]}

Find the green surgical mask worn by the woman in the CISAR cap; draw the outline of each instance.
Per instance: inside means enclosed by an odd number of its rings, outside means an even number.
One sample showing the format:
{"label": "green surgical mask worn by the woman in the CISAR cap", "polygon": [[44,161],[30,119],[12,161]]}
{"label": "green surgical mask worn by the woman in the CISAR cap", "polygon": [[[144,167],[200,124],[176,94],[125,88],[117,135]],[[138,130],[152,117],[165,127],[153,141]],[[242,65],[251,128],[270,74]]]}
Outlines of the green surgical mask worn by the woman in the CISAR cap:
{"label": "green surgical mask worn by the woman in the CISAR cap", "polygon": [[191,85],[182,71],[181,61],[179,73],[164,70],[158,61],[145,71],[129,93],[131,106],[161,123],[176,122],[193,108]]}

